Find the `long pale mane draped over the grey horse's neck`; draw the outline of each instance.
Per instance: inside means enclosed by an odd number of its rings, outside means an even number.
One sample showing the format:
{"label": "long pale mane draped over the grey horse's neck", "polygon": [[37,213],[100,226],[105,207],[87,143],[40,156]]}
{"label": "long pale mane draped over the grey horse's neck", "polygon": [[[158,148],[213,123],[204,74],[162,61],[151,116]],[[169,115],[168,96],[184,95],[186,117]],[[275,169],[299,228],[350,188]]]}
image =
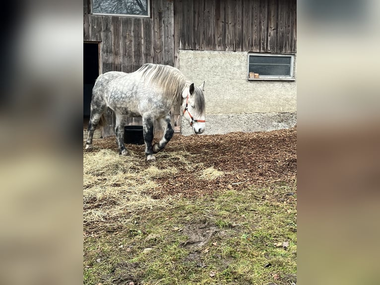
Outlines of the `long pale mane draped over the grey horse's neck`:
{"label": "long pale mane draped over the grey horse's neck", "polygon": [[164,99],[171,102],[175,111],[181,112],[182,92],[190,81],[178,69],[171,66],[145,64],[136,72],[144,77],[144,83],[162,91]]}

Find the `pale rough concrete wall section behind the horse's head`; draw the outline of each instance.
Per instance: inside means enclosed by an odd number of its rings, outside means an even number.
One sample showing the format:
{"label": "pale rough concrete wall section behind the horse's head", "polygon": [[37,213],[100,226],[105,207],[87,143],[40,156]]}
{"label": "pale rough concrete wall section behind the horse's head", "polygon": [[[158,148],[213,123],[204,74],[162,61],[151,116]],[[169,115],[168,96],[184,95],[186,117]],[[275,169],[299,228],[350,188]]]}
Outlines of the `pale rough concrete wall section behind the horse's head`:
{"label": "pale rough concrete wall section behind the horse's head", "polygon": [[[248,52],[180,50],[179,69],[195,85],[205,81],[206,135],[296,125],[296,81],[248,80]],[[181,126],[192,134],[184,119]]]}

